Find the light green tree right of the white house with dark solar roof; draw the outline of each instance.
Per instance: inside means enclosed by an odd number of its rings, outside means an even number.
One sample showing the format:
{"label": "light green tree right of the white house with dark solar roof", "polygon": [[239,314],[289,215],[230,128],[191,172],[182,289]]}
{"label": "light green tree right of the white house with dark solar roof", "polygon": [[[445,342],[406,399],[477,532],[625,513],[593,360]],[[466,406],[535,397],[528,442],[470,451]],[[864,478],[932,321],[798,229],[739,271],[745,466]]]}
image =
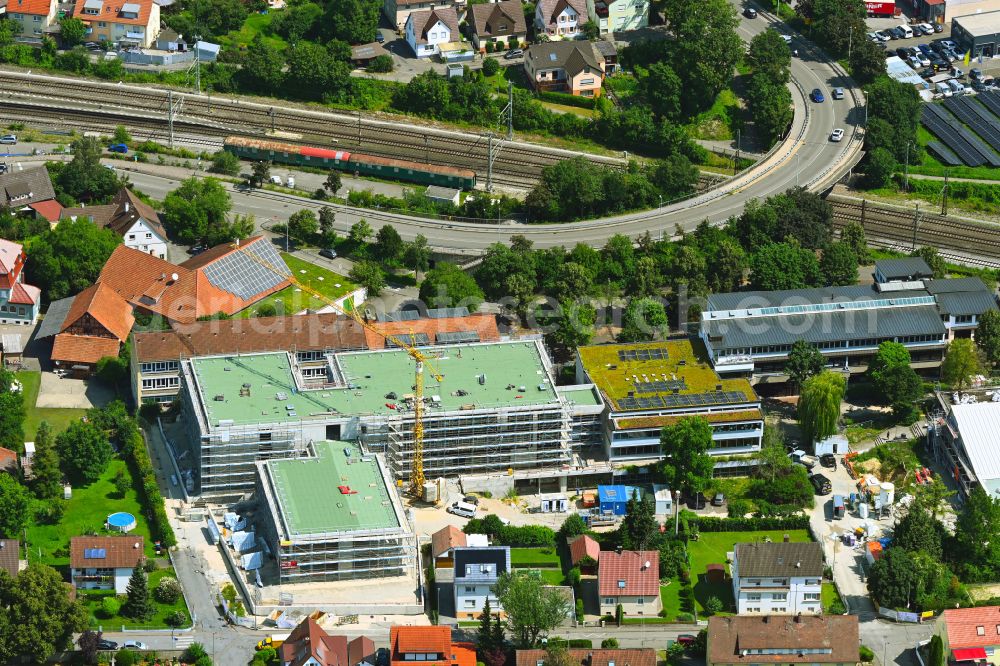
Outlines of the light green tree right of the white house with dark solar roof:
{"label": "light green tree right of the white house with dark solar roof", "polygon": [[501,574],[493,588],[507,614],[507,628],[518,647],[536,645],[538,639],[563,623],[570,611],[565,597],[527,571]]}

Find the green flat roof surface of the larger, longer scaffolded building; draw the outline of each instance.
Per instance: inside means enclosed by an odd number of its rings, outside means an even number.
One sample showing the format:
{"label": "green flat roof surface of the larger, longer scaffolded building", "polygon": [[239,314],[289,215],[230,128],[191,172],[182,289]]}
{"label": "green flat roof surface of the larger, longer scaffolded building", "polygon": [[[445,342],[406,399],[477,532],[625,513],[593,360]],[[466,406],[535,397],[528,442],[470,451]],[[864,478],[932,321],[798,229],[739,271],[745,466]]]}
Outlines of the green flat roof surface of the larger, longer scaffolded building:
{"label": "green flat roof surface of the larger, longer scaffolded building", "polygon": [[[559,400],[534,342],[435,346],[423,351],[432,357],[429,365],[433,366],[433,370],[424,369],[424,396],[439,398],[428,403],[427,414]],[[403,350],[336,357],[351,388],[296,392],[284,353],[203,357],[192,359],[191,364],[213,427],[223,420],[233,425],[283,423],[329,418],[330,413],[390,416],[397,411],[389,405],[403,407],[403,396],[413,392],[413,360]],[[440,383],[433,376],[435,371],[442,376]],[[479,383],[481,375],[486,376],[484,384]],[[386,398],[389,393],[397,397]]]}

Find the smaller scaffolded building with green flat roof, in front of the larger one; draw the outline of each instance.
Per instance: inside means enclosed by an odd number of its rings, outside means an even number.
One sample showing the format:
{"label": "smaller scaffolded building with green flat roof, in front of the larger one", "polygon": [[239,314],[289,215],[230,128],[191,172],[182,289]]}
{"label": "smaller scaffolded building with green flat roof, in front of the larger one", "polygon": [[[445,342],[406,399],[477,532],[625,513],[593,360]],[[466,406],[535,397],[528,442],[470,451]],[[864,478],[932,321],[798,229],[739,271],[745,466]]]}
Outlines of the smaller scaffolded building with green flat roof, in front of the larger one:
{"label": "smaller scaffolded building with green flat roof, in front of the larger one", "polygon": [[263,538],[278,583],[390,578],[413,572],[416,540],[379,456],[347,442],[257,463]]}

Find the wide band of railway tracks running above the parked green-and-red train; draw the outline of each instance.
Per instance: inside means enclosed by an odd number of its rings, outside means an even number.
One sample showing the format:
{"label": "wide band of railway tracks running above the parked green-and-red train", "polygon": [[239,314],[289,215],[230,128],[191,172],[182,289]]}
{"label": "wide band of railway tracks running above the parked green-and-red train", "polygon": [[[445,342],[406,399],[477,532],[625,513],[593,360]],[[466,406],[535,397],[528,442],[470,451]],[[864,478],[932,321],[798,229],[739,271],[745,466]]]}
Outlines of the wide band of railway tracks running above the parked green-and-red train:
{"label": "wide band of railway tracks running above the parked green-and-red train", "polygon": [[[490,140],[486,136],[440,130],[363,118],[359,115],[320,112],[279,104],[266,105],[237,97],[209,97],[160,88],[139,88],[80,79],[63,79],[20,72],[0,72],[0,100],[7,103],[38,101],[50,112],[68,116],[82,111],[88,119],[115,115],[127,120],[131,114],[145,115],[147,122],[160,118],[167,124],[173,105],[178,123],[200,126],[212,136],[227,134],[262,136],[281,130],[302,136],[302,141],[322,147],[368,152],[374,155],[413,159],[431,164],[473,169],[483,178],[487,172]],[[131,123],[130,123],[131,124]],[[541,170],[576,155],[523,142],[504,142],[496,153],[493,178],[498,184],[530,186]],[[587,155],[593,162],[622,166],[624,160]]]}

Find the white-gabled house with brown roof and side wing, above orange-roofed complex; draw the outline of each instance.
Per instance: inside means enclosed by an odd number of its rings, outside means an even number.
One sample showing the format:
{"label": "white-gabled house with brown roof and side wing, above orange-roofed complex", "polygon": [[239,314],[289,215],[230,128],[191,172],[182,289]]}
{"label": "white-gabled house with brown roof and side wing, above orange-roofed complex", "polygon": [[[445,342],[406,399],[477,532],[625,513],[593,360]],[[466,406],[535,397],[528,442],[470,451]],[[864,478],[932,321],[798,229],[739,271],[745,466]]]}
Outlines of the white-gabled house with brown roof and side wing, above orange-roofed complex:
{"label": "white-gabled house with brown roof and side wing, above orange-roofed complex", "polygon": [[87,218],[121,236],[126,247],[159,259],[167,258],[167,232],[160,222],[159,213],[127,187],[120,189],[110,204],[66,208],[62,217],[72,220]]}

